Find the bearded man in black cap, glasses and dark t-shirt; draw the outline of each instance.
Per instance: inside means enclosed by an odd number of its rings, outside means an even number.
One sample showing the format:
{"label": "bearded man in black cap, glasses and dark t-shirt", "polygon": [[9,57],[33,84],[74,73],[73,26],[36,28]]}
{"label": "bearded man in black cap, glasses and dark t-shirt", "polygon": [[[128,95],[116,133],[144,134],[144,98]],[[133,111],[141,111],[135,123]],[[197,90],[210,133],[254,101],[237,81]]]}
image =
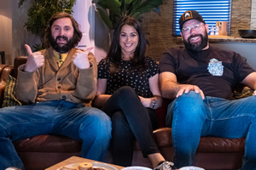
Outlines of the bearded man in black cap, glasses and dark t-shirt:
{"label": "bearded man in black cap, glasses and dark t-shirt", "polygon": [[166,125],[175,167],[194,165],[201,136],[211,135],[246,137],[241,169],[255,169],[256,97],[230,99],[238,83],[256,89],[256,72],[240,54],[209,45],[209,28],[197,11],[186,11],[179,25],[185,48],[171,48],[160,59],[161,93],[173,99]]}

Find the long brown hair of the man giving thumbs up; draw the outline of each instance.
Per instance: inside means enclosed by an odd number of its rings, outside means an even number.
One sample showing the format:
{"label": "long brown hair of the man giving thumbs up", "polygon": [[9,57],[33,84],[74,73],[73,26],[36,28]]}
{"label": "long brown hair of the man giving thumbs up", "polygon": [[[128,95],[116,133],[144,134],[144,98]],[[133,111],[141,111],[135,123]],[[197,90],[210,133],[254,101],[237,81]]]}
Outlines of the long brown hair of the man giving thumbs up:
{"label": "long brown hair of the man giving thumbs up", "polygon": [[82,32],[79,30],[79,24],[76,20],[74,20],[73,16],[68,13],[56,13],[51,16],[48,21],[48,25],[46,30],[44,31],[44,45],[46,48],[49,48],[50,42],[49,39],[51,38],[51,26],[55,22],[55,20],[59,20],[62,18],[69,18],[73,25],[73,47],[77,46],[82,38]]}

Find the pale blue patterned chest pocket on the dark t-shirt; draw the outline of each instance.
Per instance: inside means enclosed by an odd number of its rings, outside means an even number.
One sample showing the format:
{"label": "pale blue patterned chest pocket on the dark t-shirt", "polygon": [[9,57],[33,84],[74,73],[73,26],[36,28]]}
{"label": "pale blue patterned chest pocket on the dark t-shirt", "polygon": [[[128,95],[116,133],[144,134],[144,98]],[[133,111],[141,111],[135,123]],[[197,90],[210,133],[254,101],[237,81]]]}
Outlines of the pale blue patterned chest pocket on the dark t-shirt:
{"label": "pale blue patterned chest pocket on the dark t-shirt", "polygon": [[224,66],[222,65],[222,61],[218,61],[218,59],[210,59],[207,70],[212,76],[223,76]]}

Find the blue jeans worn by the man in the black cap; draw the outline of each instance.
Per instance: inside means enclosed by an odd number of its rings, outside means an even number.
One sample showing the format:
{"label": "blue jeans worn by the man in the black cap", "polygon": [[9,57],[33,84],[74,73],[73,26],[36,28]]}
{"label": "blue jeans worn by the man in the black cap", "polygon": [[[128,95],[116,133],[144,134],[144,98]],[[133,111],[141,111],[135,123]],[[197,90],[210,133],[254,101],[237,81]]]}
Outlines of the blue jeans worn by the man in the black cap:
{"label": "blue jeans worn by the man in the black cap", "polygon": [[227,100],[201,98],[190,91],[172,101],[166,124],[172,127],[174,163],[193,165],[201,136],[246,137],[242,170],[256,169],[256,96]]}

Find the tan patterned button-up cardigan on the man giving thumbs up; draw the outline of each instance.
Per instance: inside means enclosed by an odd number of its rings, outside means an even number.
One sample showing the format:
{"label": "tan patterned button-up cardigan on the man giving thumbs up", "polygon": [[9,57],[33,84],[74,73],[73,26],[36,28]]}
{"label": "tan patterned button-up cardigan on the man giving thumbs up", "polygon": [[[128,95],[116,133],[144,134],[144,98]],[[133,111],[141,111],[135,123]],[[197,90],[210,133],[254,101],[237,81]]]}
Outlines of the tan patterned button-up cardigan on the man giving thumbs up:
{"label": "tan patterned button-up cardigan on the man giving thumbs up", "polygon": [[46,100],[66,99],[73,103],[90,105],[96,95],[97,65],[93,54],[89,54],[90,68],[79,69],[73,65],[72,56],[76,48],[67,55],[59,68],[53,49],[44,49],[44,65],[34,72],[18,69],[16,98],[23,104]]}

